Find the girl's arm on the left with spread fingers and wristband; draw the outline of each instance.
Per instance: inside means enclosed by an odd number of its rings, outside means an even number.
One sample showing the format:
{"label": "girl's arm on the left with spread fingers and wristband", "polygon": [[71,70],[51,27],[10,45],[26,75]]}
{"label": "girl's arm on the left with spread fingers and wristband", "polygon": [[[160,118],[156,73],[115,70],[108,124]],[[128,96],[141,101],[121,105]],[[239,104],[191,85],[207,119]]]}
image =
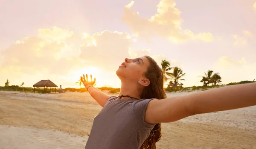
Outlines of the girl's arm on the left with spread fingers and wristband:
{"label": "girl's arm on the left with spread fingers and wristband", "polygon": [[92,81],[92,75],[90,75],[90,79],[91,81],[88,80],[88,76],[86,75],[86,79],[83,75],[83,77],[81,77],[81,81],[84,84],[84,87],[88,90],[88,92],[90,93],[90,96],[93,97],[93,99],[102,107],[105,106],[108,98],[110,96],[108,96],[107,94],[103,93],[101,90],[93,87],[93,84],[95,83],[96,79],[94,78],[94,80]]}

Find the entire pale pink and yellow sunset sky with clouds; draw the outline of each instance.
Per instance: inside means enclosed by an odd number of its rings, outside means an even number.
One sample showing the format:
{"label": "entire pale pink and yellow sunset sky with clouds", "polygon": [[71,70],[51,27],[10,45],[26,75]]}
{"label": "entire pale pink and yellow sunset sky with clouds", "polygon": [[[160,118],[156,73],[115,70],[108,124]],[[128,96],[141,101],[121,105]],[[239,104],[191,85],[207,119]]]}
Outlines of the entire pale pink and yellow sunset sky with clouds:
{"label": "entire pale pink and yellow sunset sky with clouds", "polygon": [[0,86],[49,79],[120,87],[125,58],[180,67],[184,87],[213,70],[222,83],[256,78],[256,0],[1,0]]}

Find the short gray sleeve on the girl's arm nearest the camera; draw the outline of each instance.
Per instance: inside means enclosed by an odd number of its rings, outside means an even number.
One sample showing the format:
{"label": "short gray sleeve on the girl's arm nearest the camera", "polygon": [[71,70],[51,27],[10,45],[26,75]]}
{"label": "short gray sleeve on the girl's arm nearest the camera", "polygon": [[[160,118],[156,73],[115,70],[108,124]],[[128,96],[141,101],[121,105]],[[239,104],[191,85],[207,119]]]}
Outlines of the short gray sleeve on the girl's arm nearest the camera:
{"label": "short gray sleeve on the girl's arm nearest the camera", "polygon": [[145,112],[148,106],[148,103],[156,98],[151,99],[141,99],[134,104],[135,116],[138,118],[139,122],[143,124],[145,128],[152,128],[155,124],[150,124],[145,122]]}

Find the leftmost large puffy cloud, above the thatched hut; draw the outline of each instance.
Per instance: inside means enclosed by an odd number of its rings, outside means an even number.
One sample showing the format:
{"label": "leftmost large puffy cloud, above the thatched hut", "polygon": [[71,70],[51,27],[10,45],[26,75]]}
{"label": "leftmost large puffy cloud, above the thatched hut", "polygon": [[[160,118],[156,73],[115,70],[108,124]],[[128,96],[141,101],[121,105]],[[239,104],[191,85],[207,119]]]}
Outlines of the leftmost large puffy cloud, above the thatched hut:
{"label": "leftmost large puffy cloud, above the thatched hut", "polygon": [[72,54],[79,49],[72,49],[72,45],[65,42],[72,36],[72,31],[57,27],[38,29],[38,36],[24,37],[1,51],[1,73],[14,78],[35,74],[44,77],[64,75],[74,64],[81,64]]}

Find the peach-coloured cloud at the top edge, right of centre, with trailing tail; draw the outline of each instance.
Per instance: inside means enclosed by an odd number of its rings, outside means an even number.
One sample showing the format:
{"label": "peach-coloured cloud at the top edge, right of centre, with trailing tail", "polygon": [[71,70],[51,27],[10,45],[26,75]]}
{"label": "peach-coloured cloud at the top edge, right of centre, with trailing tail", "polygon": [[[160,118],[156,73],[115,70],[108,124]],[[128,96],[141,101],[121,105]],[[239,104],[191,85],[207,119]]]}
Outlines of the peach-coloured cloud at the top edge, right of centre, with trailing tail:
{"label": "peach-coloured cloud at the top edge, right of centre, with trailing tail", "polygon": [[134,1],[124,7],[122,22],[126,23],[131,31],[143,39],[150,40],[153,36],[160,36],[172,42],[186,42],[189,40],[201,40],[211,42],[212,33],[202,32],[195,34],[189,29],[182,29],[183,22],[181,11],[175,8],[175,0],[160,0],[157,5],[157,14],[148,18],[139,17],[138,11],[131,10]]}

